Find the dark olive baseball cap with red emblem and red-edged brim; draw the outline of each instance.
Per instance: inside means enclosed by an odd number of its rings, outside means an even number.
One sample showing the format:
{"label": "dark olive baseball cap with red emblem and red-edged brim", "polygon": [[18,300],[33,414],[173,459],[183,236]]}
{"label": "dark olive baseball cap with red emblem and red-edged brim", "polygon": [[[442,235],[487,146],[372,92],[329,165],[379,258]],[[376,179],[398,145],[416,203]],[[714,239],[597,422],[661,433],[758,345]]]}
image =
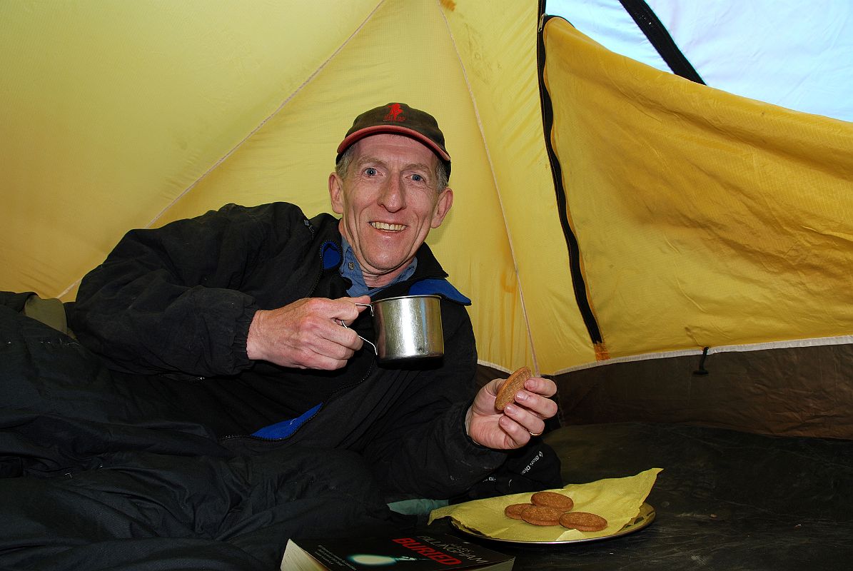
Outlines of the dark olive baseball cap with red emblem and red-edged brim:
{"label": "dark olive baseball cap with red emblem and red-edged brim", "polygon": [[444,133],[438,128],[438,121],[426,111],[411,108],[405,103],[387,103],[358,115],[338,145],[335,162],[353,143],[380,133],[404,135],[425,144],[438,155],[450,176],[450,154],[444,147]]}

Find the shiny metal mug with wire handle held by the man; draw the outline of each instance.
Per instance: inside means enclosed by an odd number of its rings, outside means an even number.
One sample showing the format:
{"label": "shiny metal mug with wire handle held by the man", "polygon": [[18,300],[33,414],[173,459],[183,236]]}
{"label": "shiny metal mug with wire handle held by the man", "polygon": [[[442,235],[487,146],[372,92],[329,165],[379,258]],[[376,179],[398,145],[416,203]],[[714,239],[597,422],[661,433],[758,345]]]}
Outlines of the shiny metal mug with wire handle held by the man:
{"label": "shiny metal mug with wire handle held by the man", "polygon": [[444,355],[438,295],[403,295],[356,305],[370,308],[376,342],[362,340],[374,348],[381,362]]}

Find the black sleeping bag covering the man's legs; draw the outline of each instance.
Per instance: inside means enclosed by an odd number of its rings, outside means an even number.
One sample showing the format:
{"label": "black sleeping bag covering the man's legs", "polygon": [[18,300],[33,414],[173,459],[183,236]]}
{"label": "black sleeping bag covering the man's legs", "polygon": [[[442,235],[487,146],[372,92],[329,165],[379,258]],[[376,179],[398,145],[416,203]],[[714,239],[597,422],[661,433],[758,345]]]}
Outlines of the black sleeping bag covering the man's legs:
{"label": "black sleeping bag covering the man's legs", "polygon": [[277,569],[292,536],[400,530],[363,459],[242,451],[0,296],[0,568]]}

